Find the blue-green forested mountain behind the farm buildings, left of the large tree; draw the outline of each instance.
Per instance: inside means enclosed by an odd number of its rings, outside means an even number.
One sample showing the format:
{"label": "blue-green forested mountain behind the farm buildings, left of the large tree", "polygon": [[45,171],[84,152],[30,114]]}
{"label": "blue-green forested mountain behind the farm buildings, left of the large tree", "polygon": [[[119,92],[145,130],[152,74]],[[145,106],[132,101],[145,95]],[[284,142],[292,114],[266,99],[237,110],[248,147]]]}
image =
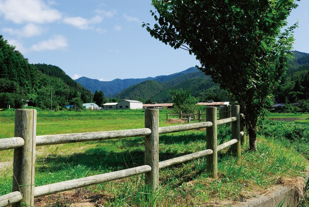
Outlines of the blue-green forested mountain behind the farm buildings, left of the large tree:
{"label": "blue-green forested mountain behind the farm buildings, left of the large tree", "polygon": [[152,99],[156,102],[165,103],[171,100],[170,90],[179,90],[180,88],[191,91],[193,96],[202,101],[207,101],[210,98],[207,96],[208,90],[216,91],[218,94],[212,95],[211,99],[215,99],[215,101],[226,100],[225,91],[220,91],[219,86],[209,76],[205,76],[203,72],[194,67],[176,75],[155,78],[130,86],[121,92],[121,99]]}

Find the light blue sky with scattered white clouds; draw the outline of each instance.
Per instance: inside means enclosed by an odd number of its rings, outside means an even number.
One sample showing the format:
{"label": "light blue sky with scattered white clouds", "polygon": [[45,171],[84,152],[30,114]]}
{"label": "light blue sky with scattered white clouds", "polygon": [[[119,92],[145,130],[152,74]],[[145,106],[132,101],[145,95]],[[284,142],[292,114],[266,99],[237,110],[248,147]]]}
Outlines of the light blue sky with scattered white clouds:
{"label": "light blue sky with scattered white clouds", "polygon": [[[309,0],[298,2],[295,50],[309,53]],[[200,65],[151,37],[151,0],[0,0],[0,34],[29,63],[56,65],[71,78],[111,81],[169,75]]]}

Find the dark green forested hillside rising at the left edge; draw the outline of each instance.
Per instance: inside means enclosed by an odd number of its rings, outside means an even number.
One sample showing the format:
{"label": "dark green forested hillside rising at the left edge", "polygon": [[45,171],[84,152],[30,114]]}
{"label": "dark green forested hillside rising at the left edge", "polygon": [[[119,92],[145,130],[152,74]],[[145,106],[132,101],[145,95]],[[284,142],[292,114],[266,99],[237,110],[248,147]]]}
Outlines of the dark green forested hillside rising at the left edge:
{"label": "dark green forested hillside rising at the left edge", "polygon": [[[40,69],[40,70],[39,70]],[[44,72],[42,73],[41,70]],[[49,76],[52,74],[52,76]],[[29,100],[29,105],[47,109],[61,109],[72,100],[87,101],[86,90],[59,67],[46,64],[29,64],[28,59],[15,50],[0,35],[0,108],[20,108]]]}

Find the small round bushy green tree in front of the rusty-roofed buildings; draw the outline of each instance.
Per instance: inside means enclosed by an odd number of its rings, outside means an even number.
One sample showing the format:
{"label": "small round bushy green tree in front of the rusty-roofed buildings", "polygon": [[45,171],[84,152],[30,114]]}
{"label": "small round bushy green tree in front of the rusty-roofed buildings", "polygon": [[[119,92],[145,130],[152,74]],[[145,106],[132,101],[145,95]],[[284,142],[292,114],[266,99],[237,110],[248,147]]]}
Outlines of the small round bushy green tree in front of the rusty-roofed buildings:
{"label": "small round bushy green tree in front of the rusty-roofed buildings", "polygon": [[171,90],[172,102],[176,111],[182,111],[183,113],[195,113],[197,111],[198,99],[193,97],[190,91],[183,89]]}

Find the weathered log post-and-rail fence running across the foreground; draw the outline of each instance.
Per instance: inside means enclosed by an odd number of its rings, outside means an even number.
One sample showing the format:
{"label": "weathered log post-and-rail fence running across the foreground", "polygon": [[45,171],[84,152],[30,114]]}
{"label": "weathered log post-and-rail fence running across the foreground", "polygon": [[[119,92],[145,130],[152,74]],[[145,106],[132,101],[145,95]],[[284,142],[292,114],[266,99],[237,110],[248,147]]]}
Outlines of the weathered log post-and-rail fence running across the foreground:
{"label": "weathered log post-and-rail fence running across the foreground", "polygon": [[[145,173],[145,184],[152,191],[159,185],[159,169],[207,156],[207,171],[218,176],[218,151],[232,146],[234,156],[240,156],[243,125],[240,125],[239,106],[231,107],[231,117],[217,120],[217,108],[206,109],[206,122],[159,127],[159,110],[145,110],[145,128],[91,133],[72,133],[36,136],[36,110],[15,111],[15,137],[0,139],[0,150],[14,149],[13,192],[0,196],[0,207],[34,206],[34,198],[89,185],[118,180]],[[231,140],[217,146],[217,126],[231,123]],[[159,162],[159,134],[206,128],[206,150]],[[87,142],[125,137],[145,136],[145,165],[125,170],[34,187],[36,146]]]}

